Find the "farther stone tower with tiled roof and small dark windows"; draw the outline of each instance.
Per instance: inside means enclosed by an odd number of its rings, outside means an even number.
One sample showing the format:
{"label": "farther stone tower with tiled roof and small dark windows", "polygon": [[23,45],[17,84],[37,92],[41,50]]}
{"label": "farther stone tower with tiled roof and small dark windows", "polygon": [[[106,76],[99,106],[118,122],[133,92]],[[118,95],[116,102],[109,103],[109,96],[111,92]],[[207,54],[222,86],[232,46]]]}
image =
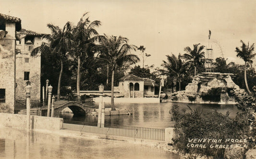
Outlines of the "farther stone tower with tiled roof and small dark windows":
{"label": "farther stone tower with tiled roof and small dark windows", "polygon": [[41,54],[31,56],[31,51],[41,45],[40,33],[21,29],[16,34],[16,96],[25,97],[29,81],[31,99],[40,99]]}

